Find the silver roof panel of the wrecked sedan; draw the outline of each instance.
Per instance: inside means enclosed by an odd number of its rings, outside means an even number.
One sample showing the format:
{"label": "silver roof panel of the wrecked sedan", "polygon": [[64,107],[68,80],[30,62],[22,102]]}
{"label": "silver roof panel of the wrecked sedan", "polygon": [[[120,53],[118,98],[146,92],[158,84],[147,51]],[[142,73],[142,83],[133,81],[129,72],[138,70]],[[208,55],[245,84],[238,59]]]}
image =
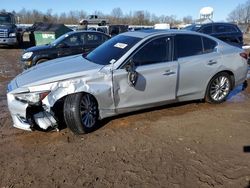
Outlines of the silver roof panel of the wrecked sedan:
{"label": "silver roof panel of the wrecked sedan", "polygon": [[194,32],[194,31],[187,31],[187,30],[176,30],[176,29],[146,29],[146,30],[139,30],[139,31],[129,31],[122,33],[121,35],[125,36],[131,36],[131,37],[137,37],[137,38],[146,38],[149,36],[154,35],[164,35],[164,34],[196,34],[196,35],[202,35],[200,33]]}

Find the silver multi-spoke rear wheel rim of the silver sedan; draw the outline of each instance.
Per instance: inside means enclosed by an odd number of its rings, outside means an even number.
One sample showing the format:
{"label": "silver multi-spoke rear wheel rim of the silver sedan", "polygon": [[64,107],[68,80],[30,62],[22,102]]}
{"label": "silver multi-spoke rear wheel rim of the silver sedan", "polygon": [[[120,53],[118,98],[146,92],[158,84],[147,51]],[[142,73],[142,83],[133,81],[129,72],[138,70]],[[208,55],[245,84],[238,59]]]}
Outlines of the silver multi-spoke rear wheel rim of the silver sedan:
{"label": "silver multi-spoke rear wheel rim of the silver sedan", "polygon": [[210,88],[210,96],[215,101],[224,100],[230,91],[230,81],[226,76],[220,76],[213,80]]}

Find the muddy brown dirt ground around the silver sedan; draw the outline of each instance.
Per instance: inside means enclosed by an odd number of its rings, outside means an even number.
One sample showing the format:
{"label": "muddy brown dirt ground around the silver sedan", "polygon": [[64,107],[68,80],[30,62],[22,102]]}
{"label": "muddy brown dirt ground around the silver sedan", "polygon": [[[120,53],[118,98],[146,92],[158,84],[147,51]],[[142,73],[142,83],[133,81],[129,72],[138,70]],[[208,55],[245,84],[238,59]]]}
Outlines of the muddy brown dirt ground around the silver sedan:
{"label": "muddy brown dirt ground around the silver sedan", "polygon": [[12,127],[6,84],[19,49],[0,49],[0,187],[249,187],[250,88],[221,105],[169,105],[82,136]]}

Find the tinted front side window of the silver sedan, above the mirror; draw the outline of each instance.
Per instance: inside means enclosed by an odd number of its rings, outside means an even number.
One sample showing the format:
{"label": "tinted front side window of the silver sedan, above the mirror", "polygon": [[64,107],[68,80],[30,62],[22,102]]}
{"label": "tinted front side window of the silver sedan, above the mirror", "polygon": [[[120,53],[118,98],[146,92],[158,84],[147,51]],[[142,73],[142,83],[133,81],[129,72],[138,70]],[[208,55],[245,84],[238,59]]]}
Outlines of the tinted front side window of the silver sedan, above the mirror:
{"label": "tinted front side window of the silver sedan, above the mirror", "polygon": [[170,61],[170,37],[154,39],[143,46],[134,56],[136,66]]}

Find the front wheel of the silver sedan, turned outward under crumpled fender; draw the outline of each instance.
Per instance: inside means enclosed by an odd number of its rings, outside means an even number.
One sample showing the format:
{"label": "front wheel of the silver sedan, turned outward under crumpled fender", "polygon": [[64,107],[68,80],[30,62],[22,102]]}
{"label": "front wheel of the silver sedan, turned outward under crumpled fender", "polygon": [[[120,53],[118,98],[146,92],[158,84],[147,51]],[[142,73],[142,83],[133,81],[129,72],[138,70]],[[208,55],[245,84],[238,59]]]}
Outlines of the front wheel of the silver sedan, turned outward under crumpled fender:
{"label": "front wheel of the silver sedan, turned outward under crumpled fender", "polygon": [[76,93],[64,101],[64,120],[75,134],[92,132],[97,128],[99,111],[95,98],[86,93]]}

